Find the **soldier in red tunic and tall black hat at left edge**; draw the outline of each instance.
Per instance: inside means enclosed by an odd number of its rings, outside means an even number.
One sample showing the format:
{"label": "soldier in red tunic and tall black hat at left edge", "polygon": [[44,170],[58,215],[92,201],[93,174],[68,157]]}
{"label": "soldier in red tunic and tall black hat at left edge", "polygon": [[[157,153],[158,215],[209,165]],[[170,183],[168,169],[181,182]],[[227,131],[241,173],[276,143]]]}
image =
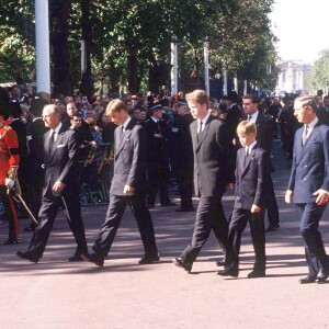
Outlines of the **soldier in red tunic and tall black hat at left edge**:
{"label": "soldier in red tunic and tall black hat at left edge", "polygon": [[0,196],[9,220],[9,238],[4,245],[19,241],[19,220],[13,197],[9,191],[14,188],[20,162],[19,140],[15,132],[5,124],[8,120],[8,100],[0,90]]}

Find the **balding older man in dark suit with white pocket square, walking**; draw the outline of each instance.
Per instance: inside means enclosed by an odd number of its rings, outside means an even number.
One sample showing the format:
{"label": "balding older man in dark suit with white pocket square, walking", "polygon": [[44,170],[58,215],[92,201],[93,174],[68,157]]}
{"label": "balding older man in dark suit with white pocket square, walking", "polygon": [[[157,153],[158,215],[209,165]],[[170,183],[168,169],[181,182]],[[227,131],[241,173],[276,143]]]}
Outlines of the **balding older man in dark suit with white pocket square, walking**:
{"label": "balding older man in dark suit with white pocket square, walking", "polygon": [[16,256],[37,263],[43,257],[58,208],[64,205],[70,229],[77,242],[75,254],[69,261],[80,261],[88,252],[84,227],[81,218],[79,198],[78,158],[79,144],[72,129],[60,122],[59,109],[46,105],[43,120],[49,131],[44,135],[45,179],[39,223],[35,228],[27,251],[18,251]]}

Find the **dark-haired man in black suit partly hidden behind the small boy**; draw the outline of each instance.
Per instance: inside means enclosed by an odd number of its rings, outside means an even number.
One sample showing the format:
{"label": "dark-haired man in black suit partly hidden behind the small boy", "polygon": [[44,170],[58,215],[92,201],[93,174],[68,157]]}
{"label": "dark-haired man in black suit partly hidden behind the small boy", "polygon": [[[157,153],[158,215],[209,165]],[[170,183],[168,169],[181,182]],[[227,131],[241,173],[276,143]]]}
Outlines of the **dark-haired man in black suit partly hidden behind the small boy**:
{"label": "dark-haired man in black suit partly hidden behind the small boy", "polygon": [[[243,112],[247,120],[257,126],[257,144],[271,155],[273,141],[273,123],[272,120],[258,111],[259,98],[253,94],[247,94],[243,98]],[[271,164],[272,167],[272,164]],[[274,231],[280,228],[279,207],[275,198],[272,178],[269,180],[265,207],[268,209],[269,226],[266,231]]]}

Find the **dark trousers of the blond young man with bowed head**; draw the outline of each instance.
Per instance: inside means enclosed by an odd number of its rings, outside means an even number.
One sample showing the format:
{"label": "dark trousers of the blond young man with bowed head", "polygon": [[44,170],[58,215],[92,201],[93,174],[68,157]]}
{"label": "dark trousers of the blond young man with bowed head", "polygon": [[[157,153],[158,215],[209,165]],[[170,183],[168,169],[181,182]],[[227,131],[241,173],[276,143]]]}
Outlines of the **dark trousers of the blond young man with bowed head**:
{"label": "dark trousers of the blond young man with bowed head", "polygon": [[110,195],[110,204],[105,217],[105,223],[102,225],[100,236],[95,240],[92,249],[100,256],[107,256],[127,204],[131,205],[133,214],[136,218],[143,246],[145,249],[145,257],[158,257],[154,224],[150,213],[146,207],[144,195]]}

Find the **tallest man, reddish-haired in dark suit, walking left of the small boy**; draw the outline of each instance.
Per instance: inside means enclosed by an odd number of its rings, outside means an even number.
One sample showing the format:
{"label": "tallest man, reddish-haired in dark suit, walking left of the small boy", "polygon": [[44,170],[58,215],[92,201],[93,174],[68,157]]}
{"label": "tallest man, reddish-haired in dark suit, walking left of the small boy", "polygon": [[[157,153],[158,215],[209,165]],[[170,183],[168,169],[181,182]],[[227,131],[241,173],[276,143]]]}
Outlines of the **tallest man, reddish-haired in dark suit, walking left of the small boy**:
{"label": "tallest man, reddish-haired in dark suit, walking left of the small boy", "polygon": [[172,262],[191,272],[202,246],[213,229],[220,247],[230,259],[227,249],[227,220],[222,196],[226,184],[232,182],[234,170],[228,168],[228,133],[223,122],[208,112],[209,99],[205,91],[194,90],[186,94],[186,101],[194,118],[191,135],[194,154],[194,188],[200,196],[192,242],[183,250],[180,258]]}

